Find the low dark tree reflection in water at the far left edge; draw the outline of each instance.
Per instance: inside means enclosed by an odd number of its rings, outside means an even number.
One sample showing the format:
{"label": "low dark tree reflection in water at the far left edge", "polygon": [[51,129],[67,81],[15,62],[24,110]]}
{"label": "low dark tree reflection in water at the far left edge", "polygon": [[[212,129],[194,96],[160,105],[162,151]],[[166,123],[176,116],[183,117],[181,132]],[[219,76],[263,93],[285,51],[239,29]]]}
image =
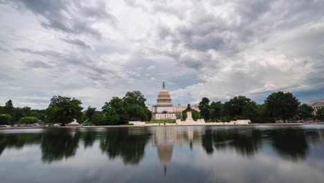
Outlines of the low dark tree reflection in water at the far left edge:
{"label": "low dark tree reflection in water at the far left edge", "polygon": [[0,133],[0,155],[6,148],[23,148],[27,144],[39,143],[41,137],[39,133]]}

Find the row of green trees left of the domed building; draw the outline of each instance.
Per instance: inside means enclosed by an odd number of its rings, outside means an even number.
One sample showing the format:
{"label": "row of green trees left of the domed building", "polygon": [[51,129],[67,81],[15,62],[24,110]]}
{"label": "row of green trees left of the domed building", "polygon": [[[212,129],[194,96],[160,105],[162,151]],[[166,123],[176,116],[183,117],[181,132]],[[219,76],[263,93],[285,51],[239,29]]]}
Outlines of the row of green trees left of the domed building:
{"label": "row of green trees left of the domed building", "polygon": [[88,122],[93,125],[121,125],[128,121],[150,121],[152,113],[145,106],[146,98],[139,91],[127,92],[123,98],[114,96],[102,106],[82,107],[76,98],[53,96],[46,110],[32,110],[30,107],[14,107],[9,100],[0,106],[0,125],[17,123],[61,123],[66,125],[76,119],[79,123]]}

